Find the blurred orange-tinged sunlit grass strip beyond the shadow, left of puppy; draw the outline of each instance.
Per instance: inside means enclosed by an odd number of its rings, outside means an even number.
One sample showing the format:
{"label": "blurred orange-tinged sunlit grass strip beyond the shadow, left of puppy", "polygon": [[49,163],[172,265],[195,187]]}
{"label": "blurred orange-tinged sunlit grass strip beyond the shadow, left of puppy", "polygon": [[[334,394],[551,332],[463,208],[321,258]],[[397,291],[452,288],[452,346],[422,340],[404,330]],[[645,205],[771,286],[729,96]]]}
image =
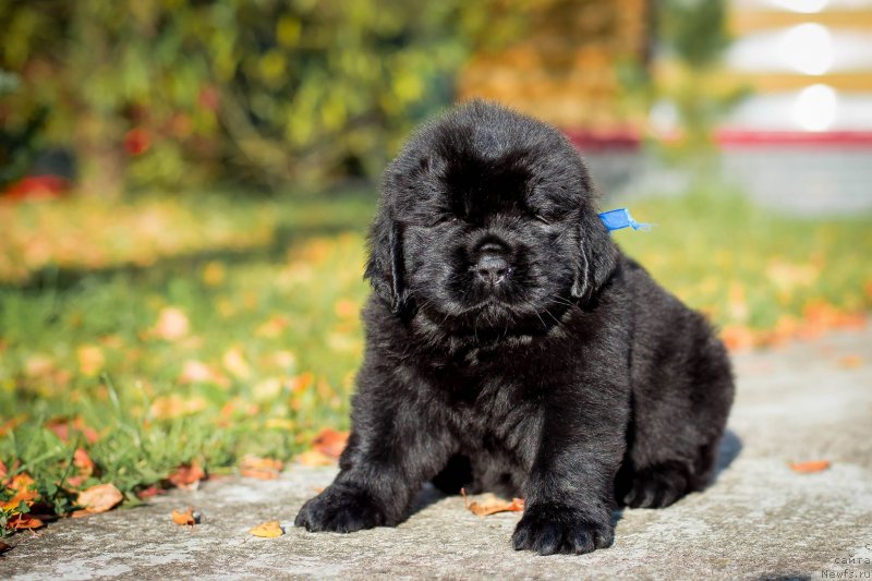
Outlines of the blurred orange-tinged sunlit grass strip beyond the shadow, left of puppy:
{"label": "blurred orange-tinged sunlit grass strip beyond the shadow, left of puppy", "polygon": [[51,282],[56,271],[148,267],[203,253],[266,250],[311,230],[361,229],[370,196],[302,201],[218,194],[0,201],[0,283]]}

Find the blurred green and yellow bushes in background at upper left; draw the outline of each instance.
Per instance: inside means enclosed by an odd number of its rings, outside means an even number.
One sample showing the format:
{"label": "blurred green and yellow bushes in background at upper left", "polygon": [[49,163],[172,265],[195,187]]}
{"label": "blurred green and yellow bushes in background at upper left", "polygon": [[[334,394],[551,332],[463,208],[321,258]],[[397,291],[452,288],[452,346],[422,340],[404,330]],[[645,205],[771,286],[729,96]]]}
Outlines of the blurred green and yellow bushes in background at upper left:
{"label": "blurred green and yellow bushes in background at upper left", "polygon": [[104,194],[373,178],[472,51],[522,33],[536,0],[506,3],[2,0],[2,179],[12,136],[74,147]]}

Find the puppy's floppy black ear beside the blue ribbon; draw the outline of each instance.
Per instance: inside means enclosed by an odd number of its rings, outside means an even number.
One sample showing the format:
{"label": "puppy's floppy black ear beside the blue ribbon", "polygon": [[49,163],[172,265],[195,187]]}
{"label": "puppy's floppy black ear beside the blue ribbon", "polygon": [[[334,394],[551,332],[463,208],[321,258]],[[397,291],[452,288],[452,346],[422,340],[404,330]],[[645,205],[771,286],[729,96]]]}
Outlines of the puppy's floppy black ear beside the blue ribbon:
{"label": "puppy's floppy black ear beside the blue ribbon", "polygon": [[582,211],[580,253],[573,299],[590,299],[608,280],[618,263],[618,249],[593,208]]}

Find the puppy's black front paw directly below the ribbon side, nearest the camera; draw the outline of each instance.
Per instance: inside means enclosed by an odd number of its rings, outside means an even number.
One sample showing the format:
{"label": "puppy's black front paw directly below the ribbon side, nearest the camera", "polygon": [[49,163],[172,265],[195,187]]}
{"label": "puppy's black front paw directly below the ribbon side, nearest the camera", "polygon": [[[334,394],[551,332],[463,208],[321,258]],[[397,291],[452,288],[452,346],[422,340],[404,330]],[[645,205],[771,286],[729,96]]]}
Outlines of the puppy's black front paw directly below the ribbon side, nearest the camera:
{"label": "puppy's black front paw directly below the ribbon side, nearest the camera", "polygon": [[531,505],[514,529],[512,543],[516,550],[536,550],[540,555],[581,555],[607,548],[614,538],[609,521],[600,522],[567,506]]}

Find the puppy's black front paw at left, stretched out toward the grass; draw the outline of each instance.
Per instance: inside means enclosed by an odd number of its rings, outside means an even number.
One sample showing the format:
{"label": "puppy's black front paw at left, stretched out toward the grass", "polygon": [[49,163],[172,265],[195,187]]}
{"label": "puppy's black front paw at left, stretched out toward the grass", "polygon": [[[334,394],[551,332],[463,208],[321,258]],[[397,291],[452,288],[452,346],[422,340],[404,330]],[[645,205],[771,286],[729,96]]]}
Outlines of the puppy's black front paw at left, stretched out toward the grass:
{"label": "puppy's black front paw at left, stretched out toward the grass", "polygon": [[293,524],[310,532],[353,533],[385,524],[385,515],[367,494],[332,484],[303,505]]}

